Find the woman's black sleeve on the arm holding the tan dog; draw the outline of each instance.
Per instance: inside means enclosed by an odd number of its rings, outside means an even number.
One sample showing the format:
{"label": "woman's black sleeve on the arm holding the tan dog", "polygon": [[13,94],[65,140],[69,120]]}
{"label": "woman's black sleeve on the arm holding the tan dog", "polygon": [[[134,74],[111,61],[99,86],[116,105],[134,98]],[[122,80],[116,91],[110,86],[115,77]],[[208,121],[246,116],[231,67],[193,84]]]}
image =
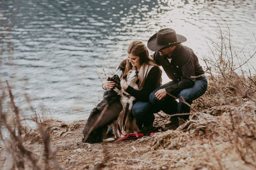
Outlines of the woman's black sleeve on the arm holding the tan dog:
{"label": "woman's black sleeve on the arm holding the tan dog", "polygon": [[152,67],[148,72],[147,79],[145,80],[144,86],[140,90],[135,90],[133,87],[128,86],[125,90],[130,95],[134,96],[137,100],[147,102],[150,93],[155,90],[155,85],[158,81],[159,69],[157,67]]}

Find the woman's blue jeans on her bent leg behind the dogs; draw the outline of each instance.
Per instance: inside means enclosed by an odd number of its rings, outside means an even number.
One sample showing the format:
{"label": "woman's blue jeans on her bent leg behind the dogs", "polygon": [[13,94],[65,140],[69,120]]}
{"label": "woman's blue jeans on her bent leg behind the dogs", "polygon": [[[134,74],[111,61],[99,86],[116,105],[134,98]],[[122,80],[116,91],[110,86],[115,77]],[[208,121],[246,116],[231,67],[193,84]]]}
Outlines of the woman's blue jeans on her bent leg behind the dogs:
{"label": "woman's blue jeans on her bent leg behind the dogs", "polygon": [[[103,96],[106,94],[107,90],[103,92]],[[153,106],[149,101],[142,102],[136,101],[132,106],[132,114],[136,118],[136,123],[139,127],[150,125],[154,122],[154,113],[159,112],[160,109]],[[119,113],[118,113],[119,114]]]}

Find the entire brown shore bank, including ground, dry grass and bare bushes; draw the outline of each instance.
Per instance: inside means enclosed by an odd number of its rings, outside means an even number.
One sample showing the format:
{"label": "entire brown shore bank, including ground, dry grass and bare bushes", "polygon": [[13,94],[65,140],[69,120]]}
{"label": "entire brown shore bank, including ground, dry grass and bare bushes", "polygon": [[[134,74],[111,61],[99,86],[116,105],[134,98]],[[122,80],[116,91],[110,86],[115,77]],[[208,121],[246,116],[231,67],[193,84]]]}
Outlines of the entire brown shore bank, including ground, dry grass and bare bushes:
{"label": "entire brown shore bank, including ground, dry grass and bare bushes", "polygon": [[[219,31],[208,45],[212,56],[203,59],[208,90],[193,102],[189,120],[136,141],[82,143],[86,121],[65,124],[38,114],[31,118],[37,129],[27,130],[8,82],[13,114],[3,112],[0,84],[1,169],[256,169],[256,76],[242,69],[255,52],[243,62],[242,52],[233,51],[229,27]],[[154,126],[165,121],[156,115]]]}

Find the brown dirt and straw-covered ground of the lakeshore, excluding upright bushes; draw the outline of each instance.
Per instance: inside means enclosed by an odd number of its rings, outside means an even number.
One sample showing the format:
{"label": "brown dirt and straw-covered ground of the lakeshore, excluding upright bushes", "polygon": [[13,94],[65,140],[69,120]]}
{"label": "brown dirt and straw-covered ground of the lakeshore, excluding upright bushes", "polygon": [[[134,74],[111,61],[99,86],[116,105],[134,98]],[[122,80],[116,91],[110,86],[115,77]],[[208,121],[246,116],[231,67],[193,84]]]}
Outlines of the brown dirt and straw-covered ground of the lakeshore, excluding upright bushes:
{"label": "brown dirt and straw-covered ground of the lakeshore, excluding upright bushes", "polygon": [[[167,130],[166,120],[155,114],[154,126],[166,131],[137,140],[94,144],[82,143],[86,120],[71,124],[49,121],[46,129],[57,163],[50,156],[47,166],[40,160],[44,153],[40,133],[24,137],[23,145],[39,157],[37,164],[42,169],[251,170],[256,169],[255,114],[255,103],[250,102],[211,108],[194,113],[177,130]],[[0,167],[8,169],[11,160],[4,146],[0,153]],[[30,169],[28,163],[25,169]]]}

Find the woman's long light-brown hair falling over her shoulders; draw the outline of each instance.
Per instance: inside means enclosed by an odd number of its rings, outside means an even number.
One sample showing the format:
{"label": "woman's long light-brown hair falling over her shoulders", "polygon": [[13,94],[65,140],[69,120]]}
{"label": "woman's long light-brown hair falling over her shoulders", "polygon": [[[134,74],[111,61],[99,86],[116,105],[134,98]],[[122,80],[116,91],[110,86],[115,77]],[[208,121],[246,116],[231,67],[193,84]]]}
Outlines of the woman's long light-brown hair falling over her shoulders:
{"label": "woman's long light-brown hair falling over her shoulders", "polygon": [[[157,66],[159,68],[159,66],[155,63],[155,61],[149,57],[147,47],[143,44],[142,41],[139,41],[139,40],[132,41],[129,47],[127,48],[127,53],[139,56],[140,65],[142,65],[143,63],[146,63],[148,65]],[[127,58],[124,74],[126,74],[131,69],[132,69],[132,64],[129,62],[129,59]]]}

